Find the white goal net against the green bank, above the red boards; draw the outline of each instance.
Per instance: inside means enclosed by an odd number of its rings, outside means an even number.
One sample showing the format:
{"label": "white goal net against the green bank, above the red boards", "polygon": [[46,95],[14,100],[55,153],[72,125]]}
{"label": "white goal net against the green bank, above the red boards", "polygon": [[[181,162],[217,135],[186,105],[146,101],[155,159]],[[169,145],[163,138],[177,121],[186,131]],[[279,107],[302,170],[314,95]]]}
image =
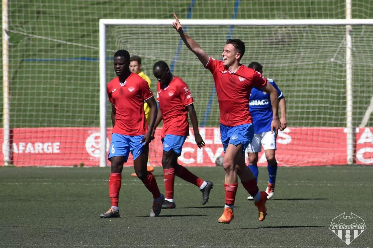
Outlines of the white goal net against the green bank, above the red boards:
{"label": "white goal net against the green bank, above the red boards", "polygon": [[[276,81],[285,94],[291,126],[345,127],[345,26],[189,26],[186,33],[216,59],[221,59],[228,38],[244,41],[246,51],[241,63],[260,62],[264,76]],[[372,34],[373,26],[354,27],[354,91],[366,95],[363,98],[367,100],[372,94],[372,81],[362,77],[369,78],[370,68],[366,66],[373,55]],[[153,81],[154,63],[166,61],[173,74],[190,86],[200,124],[219,126],[213,78],[181,44],[172,26],[110,25],[106,37],[108,50],[126,49],[143,58],[142,67]],[[115,77],[111,62],[107,61],[107,80]],[[155,91],[156,81],[152,87]],[[355,97],[356,126],[366,108],[359,95]]]}

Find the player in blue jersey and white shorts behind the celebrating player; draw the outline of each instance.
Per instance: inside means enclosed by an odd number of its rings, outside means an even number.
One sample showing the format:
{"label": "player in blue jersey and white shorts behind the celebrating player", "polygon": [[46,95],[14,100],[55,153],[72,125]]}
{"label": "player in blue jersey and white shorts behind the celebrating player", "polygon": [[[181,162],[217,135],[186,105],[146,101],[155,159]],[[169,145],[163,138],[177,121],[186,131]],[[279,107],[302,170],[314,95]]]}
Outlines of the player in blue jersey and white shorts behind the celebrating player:
{"label": "player in blue jersey and white shorts behind the celebrating player", "polygon": [[[251,62],[247,67],[263,73],[263,67],[258,62]],[[267,81],[272,84],[278,92],[279,108],[281,110],[280,130],[282,131],[287,125],[285,97],[273,79],[267,78]],[[266,154],[268,162],[267,169],[269,174],[266,193],[268,194],[267,199],[271,199],[275,190],[277,161],[275,158],[276,134],[275,132],[271,132],[272,106],[269,95],[254,87],[250,94],[249,111],[251,116],[253,116],[254,138],[246,149],[249,158],[248,167],[253,171],[253,174],[258,181],[258,152],[261,151],[261,146],[263,145],[264,153]],[[253,200],[253,197],[249,196],[247,199]]]}

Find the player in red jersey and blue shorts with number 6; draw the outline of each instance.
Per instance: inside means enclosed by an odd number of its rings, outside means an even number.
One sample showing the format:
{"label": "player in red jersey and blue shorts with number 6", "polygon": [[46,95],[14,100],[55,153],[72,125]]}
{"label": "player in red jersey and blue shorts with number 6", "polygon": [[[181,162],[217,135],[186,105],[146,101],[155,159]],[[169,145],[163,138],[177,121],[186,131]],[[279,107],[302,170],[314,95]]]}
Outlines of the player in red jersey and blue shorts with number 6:
{"label": "player in red jersey and blue shorts with number 6", "polygon": [[[109,149],[112,162],[109,177],[109,196],[111,207],[100,218],[119,217],[119,190],[122,179],[123,163],[127,162],[129,152],[134,157],[134,168],[138,178],[153,194],[150,217],[159,215],[164,201],[156,178],[147,171],[148,144],[151,141],[157,116],[157,103],[148,83],[129,70],[129,53],[118,50],[114,54],[114,70],[118,77],[107,84],[107,95],[112,103],[113,134]],[[150,107],[150,124],[147,127],[144,101]]]}

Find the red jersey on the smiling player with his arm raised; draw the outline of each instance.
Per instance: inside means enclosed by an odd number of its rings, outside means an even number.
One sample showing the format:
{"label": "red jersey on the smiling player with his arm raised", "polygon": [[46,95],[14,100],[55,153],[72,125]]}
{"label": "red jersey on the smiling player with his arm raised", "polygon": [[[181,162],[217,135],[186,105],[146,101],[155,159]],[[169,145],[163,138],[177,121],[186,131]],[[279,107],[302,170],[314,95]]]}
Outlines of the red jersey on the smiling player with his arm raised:
{"label": "red jersey on the smiling player with his arm raised", "polygon": [[214,77],[220,109],[220,123],[238,126],[253,122],[249,112],[251,88],[263,88],[267,79],[261,73],[241,65],[237,71],[225,69],[223,61],[209,59],[205,66]]}

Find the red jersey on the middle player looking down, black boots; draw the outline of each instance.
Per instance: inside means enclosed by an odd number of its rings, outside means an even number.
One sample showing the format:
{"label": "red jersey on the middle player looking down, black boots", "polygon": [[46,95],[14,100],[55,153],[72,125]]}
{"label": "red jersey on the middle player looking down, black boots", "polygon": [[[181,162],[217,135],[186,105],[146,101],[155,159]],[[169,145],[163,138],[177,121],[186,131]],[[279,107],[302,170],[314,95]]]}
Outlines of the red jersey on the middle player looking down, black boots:
{"label": "red jersey on the middle player looking down, black boots", "polygon": [[188,136],[189,122],[186,106],[194,103],[194,100],[186,83],[176,76],[165,88],[158,82],[157,101],[163,119],[162,138],[166,134]]}

